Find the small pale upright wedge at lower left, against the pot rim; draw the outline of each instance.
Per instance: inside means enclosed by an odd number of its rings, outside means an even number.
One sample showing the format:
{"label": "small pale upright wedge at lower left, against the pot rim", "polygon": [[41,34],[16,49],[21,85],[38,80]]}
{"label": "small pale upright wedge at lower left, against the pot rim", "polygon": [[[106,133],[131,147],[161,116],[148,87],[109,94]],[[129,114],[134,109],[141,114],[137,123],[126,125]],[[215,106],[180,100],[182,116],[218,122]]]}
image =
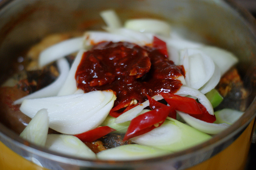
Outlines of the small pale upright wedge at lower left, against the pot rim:
{"label": "small pale upright wedge at lower left, against the pot rim", "polygon": [[44,146],[49,129],[49,118],[46,109],[39,110],[28,126],[19,135],[21,138],[39,146]]}

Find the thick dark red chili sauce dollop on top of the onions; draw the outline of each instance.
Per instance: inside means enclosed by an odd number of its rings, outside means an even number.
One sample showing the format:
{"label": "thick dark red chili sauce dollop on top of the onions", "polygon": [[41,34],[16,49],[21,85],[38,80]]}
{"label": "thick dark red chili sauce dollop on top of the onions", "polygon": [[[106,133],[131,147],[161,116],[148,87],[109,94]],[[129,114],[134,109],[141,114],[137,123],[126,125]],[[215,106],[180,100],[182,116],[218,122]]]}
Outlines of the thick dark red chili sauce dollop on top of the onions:
{"label": "thick dark red chili sauce dollop on top of the onions", "polygon": [[175,93],[182,85],[175,77],[185,75],[159,50],[128,42],[102,42],[83,54],[76,71],[77,87],[84,92],[111,89],[117,93],[115,105],[146,95]]}

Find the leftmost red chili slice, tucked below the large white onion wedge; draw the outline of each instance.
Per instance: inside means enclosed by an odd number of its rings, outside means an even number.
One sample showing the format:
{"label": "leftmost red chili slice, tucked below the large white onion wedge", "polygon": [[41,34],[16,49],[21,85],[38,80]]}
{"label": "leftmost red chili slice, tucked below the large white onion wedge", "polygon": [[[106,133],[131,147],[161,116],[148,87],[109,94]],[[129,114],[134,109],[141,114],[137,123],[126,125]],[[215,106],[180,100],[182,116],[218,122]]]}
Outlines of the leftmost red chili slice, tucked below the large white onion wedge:
{"label": "leftmost red chili slice, tucked below the large white onion wedge", "polygon": [[113,131],[115,131],[115,129],[108,126],[101,126],[74,136],[78,137],[83,142],[92,142]]}

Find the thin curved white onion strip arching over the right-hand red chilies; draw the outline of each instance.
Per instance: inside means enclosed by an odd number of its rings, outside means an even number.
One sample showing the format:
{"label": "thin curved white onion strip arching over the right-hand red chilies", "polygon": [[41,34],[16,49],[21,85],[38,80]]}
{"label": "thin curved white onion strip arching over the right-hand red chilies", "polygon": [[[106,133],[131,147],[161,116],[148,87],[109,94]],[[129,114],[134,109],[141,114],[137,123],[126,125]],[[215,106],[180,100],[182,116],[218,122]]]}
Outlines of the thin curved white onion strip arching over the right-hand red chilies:
{"label": "thin curved white onion strip arching over the right-hand red chilies", "polygon": [[198,101],[204,105],[209,114],[214,115],[214,111],[212,108],[211,102],[207,99],[207,97],[201,93],[199,90],[194,88],[181,86],[180,89],[175,93],[176,95],[190,95],[198,99]]}

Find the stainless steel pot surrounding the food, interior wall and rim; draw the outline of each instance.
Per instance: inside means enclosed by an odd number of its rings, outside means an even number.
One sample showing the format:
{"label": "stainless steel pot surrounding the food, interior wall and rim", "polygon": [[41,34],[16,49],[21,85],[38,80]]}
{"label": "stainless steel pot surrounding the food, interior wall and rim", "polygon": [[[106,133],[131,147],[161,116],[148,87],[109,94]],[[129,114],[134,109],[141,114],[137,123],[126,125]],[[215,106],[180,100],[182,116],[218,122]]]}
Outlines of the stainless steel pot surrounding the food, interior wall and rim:
{"label": "stainless steel pot surrounding the food, interior wall and rim", "polygon": [[[240,59],[240,74],[244,77],[246,87],[250,89],[250,95],[246,98],[248,107],[245,114],[232,127],[203,144],[146,160],[76,159],[28,143],[0,123],[1,147],[10,148],[23,159],[38,164],[39,168],[42,166],[54,170],[73,170],[193,168],[218,157],[239,138],[246,140],[246,144],[250,146],[256,115],[256,21],[248,11],[230,0],[0,0],[0,80],[5,80],[7,73],[11,72],[11,62],[17,54],[45,35],[71,30],[100,29],[104,23],[100,19],[99,11],[109,8],[116,10],[123,20],[134,17],[165,19],[175,26],[187,27],[207,42],[235,53]],[[246,135],[243,135],[245,132]],[[248,153],[248,148],[245,147],[245,153]],[[0,152],[0,156],[4,154]],[[230,153],[230,157],[232,156],[234,155]],[[243,166],[241,163],[238,168]]]}

